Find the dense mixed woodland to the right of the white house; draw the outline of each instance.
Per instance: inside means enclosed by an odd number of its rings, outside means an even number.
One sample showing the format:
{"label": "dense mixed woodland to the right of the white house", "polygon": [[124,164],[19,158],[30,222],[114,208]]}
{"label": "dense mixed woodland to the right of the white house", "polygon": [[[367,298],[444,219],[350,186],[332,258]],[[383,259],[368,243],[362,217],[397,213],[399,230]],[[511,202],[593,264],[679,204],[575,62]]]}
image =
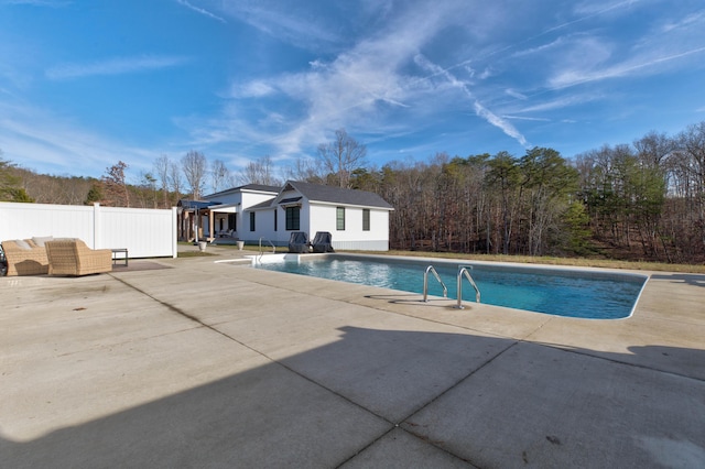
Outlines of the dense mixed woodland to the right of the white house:
{"label": "dense mixed woodland to the right of the white house", "polygon": [[356,172],[399,249],[705,262],[705,122],[572,161],[553,149]]}

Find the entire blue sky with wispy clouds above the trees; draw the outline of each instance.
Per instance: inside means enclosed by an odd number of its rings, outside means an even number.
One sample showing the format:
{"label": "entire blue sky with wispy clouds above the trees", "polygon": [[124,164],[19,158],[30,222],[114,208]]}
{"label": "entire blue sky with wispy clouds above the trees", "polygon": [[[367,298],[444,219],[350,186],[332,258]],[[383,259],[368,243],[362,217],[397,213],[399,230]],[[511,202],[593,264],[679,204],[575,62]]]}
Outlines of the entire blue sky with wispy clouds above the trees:
{"label": "entire blue sky with wispy clouds above the trees", "polygon": [[340,128],[377,166],[572,157],[703,120],[702,0],[0,0],[0,150],[39,173],[284,167]]}

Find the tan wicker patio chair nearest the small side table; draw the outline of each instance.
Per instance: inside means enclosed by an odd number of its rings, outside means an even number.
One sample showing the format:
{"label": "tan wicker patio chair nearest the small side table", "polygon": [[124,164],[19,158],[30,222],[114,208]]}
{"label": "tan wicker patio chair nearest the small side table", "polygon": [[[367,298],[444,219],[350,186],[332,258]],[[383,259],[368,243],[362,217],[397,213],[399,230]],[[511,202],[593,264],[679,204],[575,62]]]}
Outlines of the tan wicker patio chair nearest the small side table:
{"label": "tan wicker patio chair nearest the small side table", "polygon": [[46,242],[50,275],[79,276],[112,271],[112,251],[90,249],[79,239]]}

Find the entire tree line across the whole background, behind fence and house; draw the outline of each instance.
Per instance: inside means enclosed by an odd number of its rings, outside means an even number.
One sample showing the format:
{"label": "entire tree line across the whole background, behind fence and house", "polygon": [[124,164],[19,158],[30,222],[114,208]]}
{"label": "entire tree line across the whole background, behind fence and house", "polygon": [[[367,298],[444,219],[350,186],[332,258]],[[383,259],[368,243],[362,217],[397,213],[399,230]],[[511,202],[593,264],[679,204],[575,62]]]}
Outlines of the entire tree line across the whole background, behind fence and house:
{"label": "entire tree line across the whole background, behind fence and house", "polygon": [[97,179],[37,175],[0,160],[0,198],[164,208],[206,192],[296,179],[379,194],[394,207],[392,249],[705,262],[705,122],[572,160],[546,148],[518,156],[438,153],[382,167],[366,156],[366,145],[340,129],[315,157],[288,167],[264,156],[231,173],[191,151],[158,157],[138,183],[127,181],[123,162]]}

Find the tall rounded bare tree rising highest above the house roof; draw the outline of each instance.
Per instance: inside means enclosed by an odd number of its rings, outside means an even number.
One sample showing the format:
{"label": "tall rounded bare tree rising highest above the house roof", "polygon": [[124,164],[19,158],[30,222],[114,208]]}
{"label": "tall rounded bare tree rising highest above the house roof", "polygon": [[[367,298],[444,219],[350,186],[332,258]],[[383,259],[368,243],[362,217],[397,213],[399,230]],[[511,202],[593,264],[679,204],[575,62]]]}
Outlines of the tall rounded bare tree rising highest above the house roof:
{"label": "tall rounded bare tree rising highest above the house roof", "polygon": [[335,131],[335,140],[318,145],[318,159],[340,187],[350,188],[350,174],[366,162],[367,146],[348,135],[345,129]]}

